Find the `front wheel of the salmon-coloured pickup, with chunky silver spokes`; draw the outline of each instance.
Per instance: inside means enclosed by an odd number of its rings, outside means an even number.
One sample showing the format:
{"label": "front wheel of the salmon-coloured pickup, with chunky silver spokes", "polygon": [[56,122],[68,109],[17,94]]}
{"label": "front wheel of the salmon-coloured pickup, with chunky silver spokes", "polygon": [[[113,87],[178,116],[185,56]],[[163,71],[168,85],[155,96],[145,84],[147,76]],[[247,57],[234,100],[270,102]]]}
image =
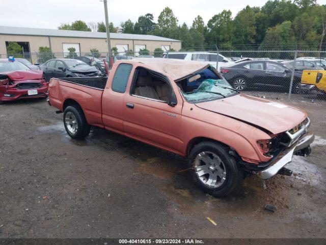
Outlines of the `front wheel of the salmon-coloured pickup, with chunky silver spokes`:
{"label": "front wheel of the salmon-coloured pickup, with chunky silver spokes", "polygon": [[195,184],[214,197],[231,193],[241,179],[233,156],[218,143],[197,144],[189,155],[190,175]]}

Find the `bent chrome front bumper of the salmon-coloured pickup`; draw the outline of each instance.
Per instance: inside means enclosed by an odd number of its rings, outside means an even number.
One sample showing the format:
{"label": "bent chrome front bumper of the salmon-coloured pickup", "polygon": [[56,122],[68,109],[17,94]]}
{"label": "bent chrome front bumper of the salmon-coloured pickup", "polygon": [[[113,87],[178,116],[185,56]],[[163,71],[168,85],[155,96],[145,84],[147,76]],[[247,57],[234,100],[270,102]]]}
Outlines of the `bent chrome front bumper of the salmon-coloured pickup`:
{"label": "bent chrome front bumper of the salmon-coloured pickup", "polygon": [[287,163],[292,161],[292,157],[295,152],[307,148],[314,141],[314,139],[315,135],[311,133],[302,136],[294,144],[277,156],[274,161],[268,165],[268,167],[258,171],[256,174],[263,180],[275,176]]}

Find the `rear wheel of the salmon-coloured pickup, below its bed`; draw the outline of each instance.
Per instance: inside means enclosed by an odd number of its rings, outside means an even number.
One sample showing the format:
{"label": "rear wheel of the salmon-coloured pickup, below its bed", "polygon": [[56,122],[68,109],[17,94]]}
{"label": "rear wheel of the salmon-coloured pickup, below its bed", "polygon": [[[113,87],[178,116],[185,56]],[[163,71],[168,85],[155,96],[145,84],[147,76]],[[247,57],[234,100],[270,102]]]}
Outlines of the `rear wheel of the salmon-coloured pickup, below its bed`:
{"label": "rear wheel of the salmon-coloured pickup, below its bed", "polygon": [[65,109],[63,122],[67,134],[73,139],[84,139],[90,133],[91,126],[87,123],[82,108],[77,105]]}

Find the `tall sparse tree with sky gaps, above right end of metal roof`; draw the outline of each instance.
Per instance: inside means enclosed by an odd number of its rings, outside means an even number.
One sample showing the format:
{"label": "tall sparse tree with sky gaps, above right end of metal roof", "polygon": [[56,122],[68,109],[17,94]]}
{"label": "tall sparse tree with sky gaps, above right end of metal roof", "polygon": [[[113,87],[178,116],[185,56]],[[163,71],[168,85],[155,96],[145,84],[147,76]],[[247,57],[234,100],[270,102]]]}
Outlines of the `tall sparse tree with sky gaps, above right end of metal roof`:
{"label": "tall sparse tree with sky gaps, above right end of metal roof", "polygon": [[163,37],[171,37],[170,31],[176,30],[178,27],[178,19],[174,15],[172,9],[166,7],[159,14],[157,24],[154,27],[154,34]]}

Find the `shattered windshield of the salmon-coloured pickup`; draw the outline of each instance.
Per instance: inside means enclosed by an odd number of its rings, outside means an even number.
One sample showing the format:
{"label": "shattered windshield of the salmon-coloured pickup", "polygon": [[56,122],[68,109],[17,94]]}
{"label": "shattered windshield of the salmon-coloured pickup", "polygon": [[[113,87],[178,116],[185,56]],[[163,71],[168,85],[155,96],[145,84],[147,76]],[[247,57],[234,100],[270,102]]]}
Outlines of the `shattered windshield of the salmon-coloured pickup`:
{"label": "shattered windshield of the salmon-coloured pickup", "polygon": [[188,103],[218,100],[239,93],[224,78],[216,75],[211,67],[195,72],[181,81],[180,86],[181,93]]}

